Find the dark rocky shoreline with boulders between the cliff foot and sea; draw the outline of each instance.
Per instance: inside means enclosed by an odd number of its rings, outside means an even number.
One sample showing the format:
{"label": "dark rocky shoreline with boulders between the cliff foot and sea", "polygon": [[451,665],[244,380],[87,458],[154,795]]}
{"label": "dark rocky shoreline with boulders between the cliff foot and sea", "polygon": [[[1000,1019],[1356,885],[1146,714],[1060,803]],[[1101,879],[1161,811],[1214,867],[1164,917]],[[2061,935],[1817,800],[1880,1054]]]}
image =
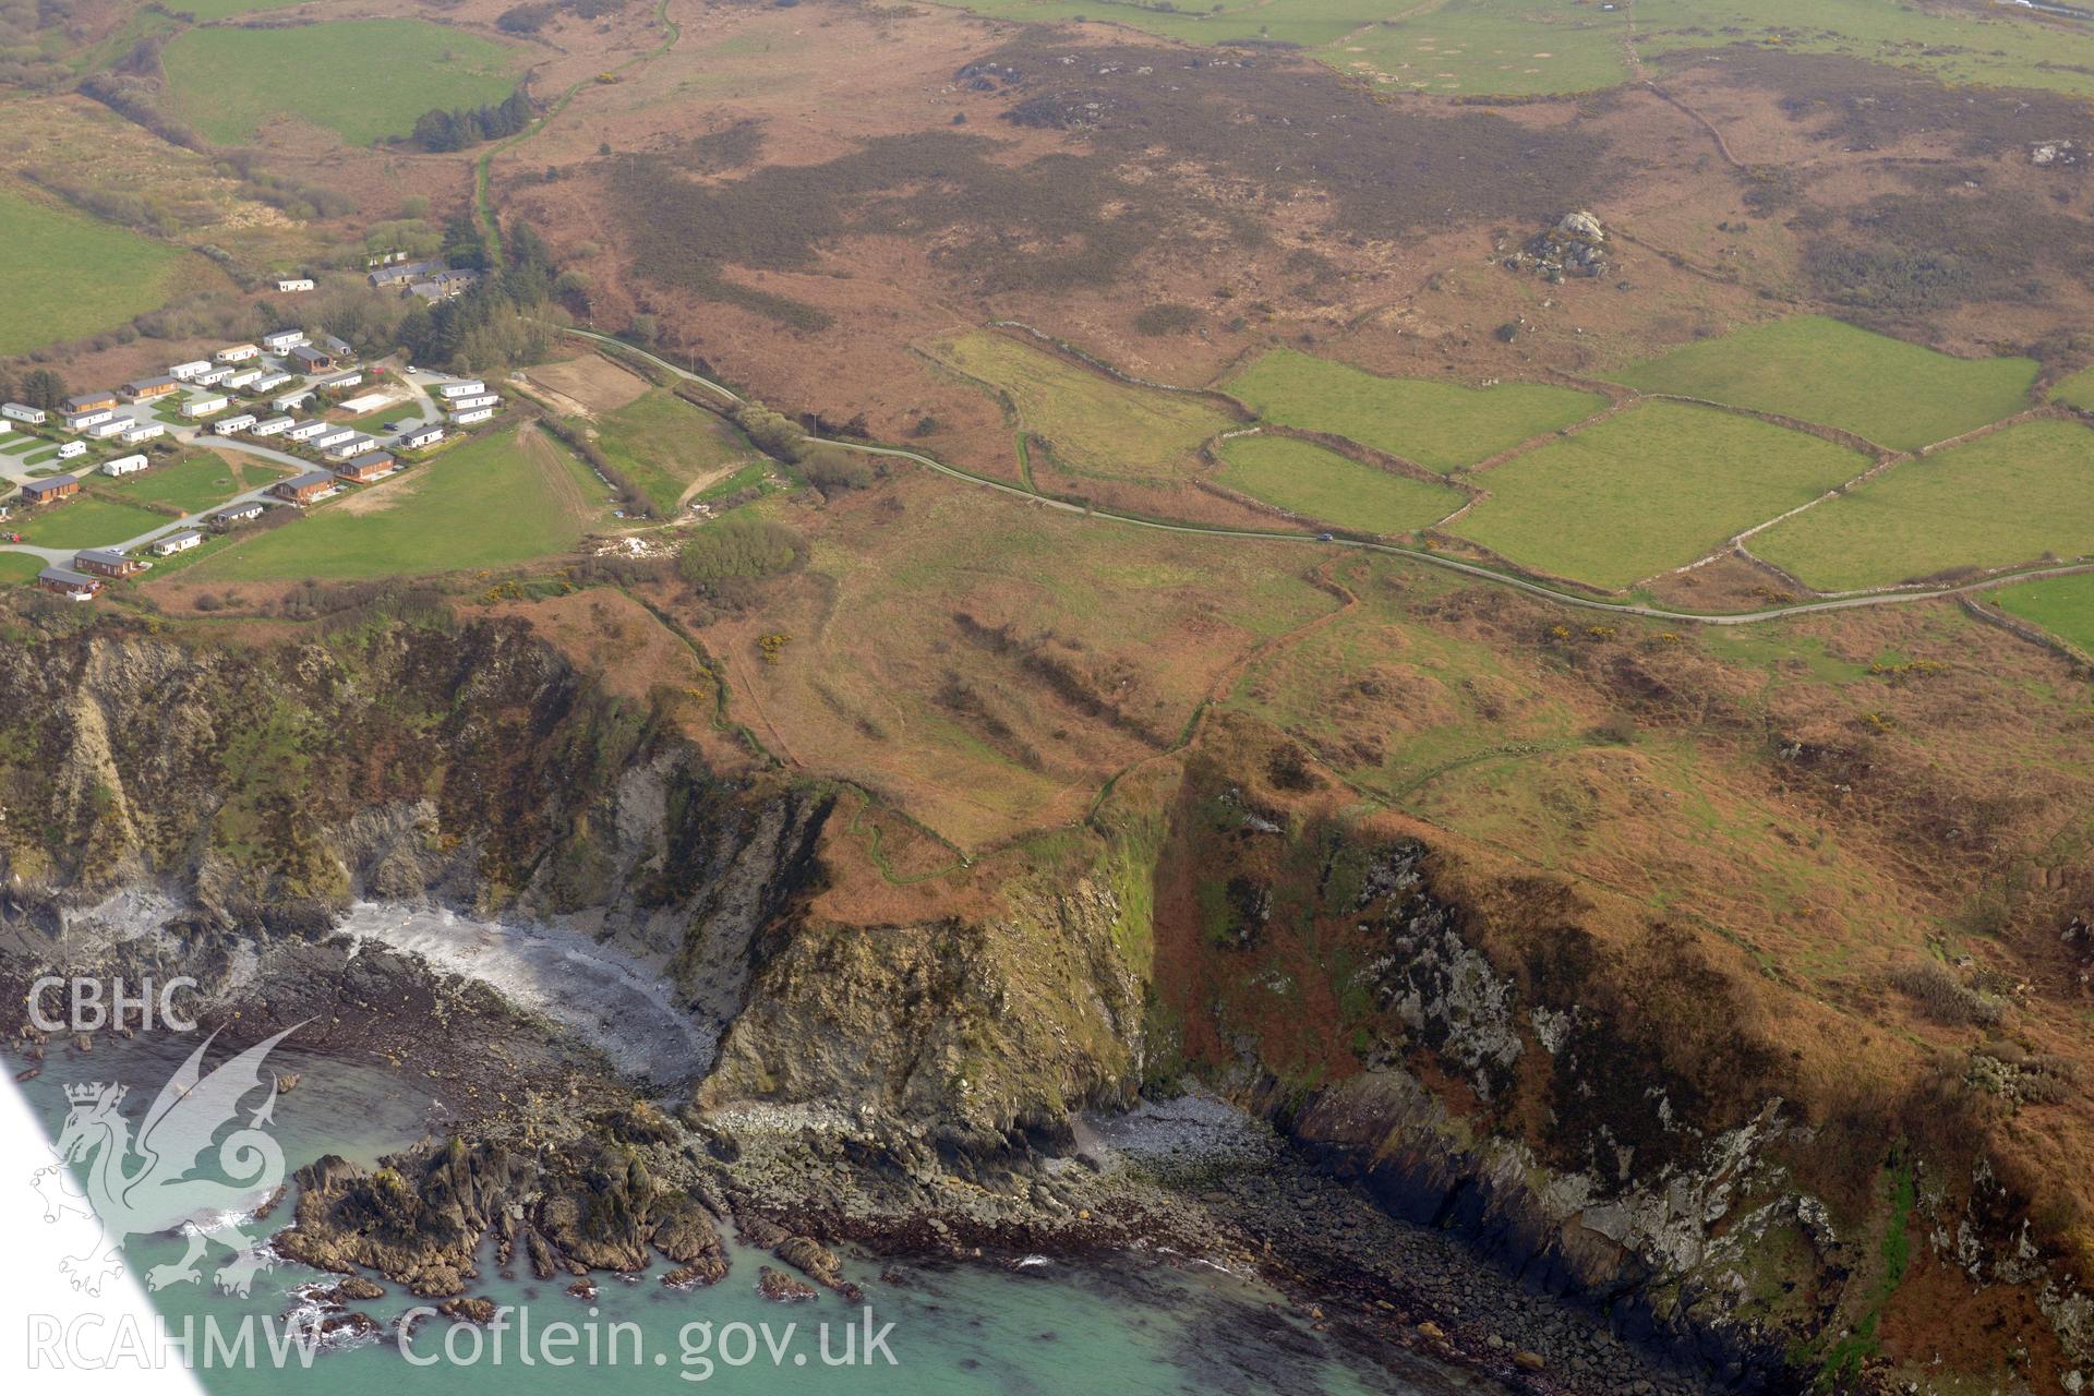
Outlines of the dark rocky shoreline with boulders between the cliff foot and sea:
{"label": "dark rocky shoreline with boulders between the cliff foot and sea", "polygon": [[[140,971],[197,946],[124,950],[103,969]],[[23,1003],[29,969],[0,959],[4,1003]],[[220,982],[199,1026],[239,1046],[299,1021],[318,1028],[308,1051],[427,1086],[454,1130],[387,1157],[385,1183],[341,1159],[297,1174],[293,1224],[274,1245],[346,1277],[314,1291],[322,1325],[343,1339],[373,1331],[371,1314],[350,1308],[371,1298],[366,1275],[471,1321],[473,1256],[488,1233],[505,1270],[582,1287],[597,1273],[645,1270],[699,1287],[725,1279],[731,1226],[777,1258],[764,1293],[781,1300],[806,1298],[810,1281],[856,1302],[833,1247],[886,1262],[896,1279],[894,1262],[1164,1252],[1265,1279],[1317,1331],[1372,1360],[1420,1354],[1537,1396],[1736,1390],[1617,1337],[1589,1306],[1522,1287],[1460,1237],[1393,1218],[1212,1097],[1141,1101],[993,1153],[831,1107],[660,1109],[586,1042],[484,986],[383,948],[352,952],[339,938],[272,944],[237,990]],[[6,1028],[31,1061],[92,1059],[92,1040]]]}

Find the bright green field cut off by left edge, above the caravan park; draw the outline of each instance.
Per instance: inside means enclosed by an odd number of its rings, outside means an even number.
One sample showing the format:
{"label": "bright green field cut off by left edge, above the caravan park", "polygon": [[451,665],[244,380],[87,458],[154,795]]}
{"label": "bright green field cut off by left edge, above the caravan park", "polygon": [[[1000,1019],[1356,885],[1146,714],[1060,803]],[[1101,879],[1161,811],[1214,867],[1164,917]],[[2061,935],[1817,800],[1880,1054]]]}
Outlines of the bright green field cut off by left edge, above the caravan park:
{"label": "bright green field cut off by left edge, above the caravan park", "polygon": [[0,354],[124,324],[168,299],[184,262],[174,247],[10,186],[0,186],[0,249],[23,268],[0,297]]}

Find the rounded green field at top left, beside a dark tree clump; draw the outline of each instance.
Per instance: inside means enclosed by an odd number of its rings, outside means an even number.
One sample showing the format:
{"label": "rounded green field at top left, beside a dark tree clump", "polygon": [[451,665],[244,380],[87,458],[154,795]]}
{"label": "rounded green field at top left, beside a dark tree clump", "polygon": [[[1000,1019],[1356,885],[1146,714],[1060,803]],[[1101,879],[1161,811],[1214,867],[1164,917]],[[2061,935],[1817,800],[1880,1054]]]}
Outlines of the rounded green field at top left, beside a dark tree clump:
{"label": "rounded green field at top left, beside a dark tree clump", "polygon": [[421,19],[289,29],[191,29],[161,63],[182,119],[220,144],[295,117],[350,144],[406,136],[431,107],[498,103],[517,84],[505,44]]}

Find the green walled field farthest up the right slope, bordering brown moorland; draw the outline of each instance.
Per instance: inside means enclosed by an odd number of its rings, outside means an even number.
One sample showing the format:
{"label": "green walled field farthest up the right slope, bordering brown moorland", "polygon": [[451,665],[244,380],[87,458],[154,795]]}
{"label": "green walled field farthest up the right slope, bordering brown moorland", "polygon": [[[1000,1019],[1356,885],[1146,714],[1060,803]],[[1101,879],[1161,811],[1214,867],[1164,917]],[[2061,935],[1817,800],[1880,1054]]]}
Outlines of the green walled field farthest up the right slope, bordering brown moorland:
{"label": "green walled field farthest up the right slope, bordering brown moorland", "polygon": [[1614,375],[1918,450],[2029,406],[2033,358],[1962,360],[1841,320],[1799,316],[1702,339]]}

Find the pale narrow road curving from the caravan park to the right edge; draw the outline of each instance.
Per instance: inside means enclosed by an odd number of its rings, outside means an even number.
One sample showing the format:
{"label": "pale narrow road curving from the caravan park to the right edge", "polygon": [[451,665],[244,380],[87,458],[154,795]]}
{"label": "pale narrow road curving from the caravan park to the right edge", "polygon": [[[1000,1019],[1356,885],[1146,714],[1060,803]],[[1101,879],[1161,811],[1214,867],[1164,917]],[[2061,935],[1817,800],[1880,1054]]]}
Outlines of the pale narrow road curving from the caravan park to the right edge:
{"label": "pale narrow road curving from the caravan park to the right edge", "polygon": [[[662,358],[658,354],[649,354],[645,350],[637,350],[630,343],[626,343],[626,341],[622,341],[622,339],[618,339],[614,335],[599,335],[595,331],[580,331],[580,329],[567,329],[567,327],[561,327],[559,333],[572,335],[572,337],[578,337],[578,339],[593,339],[597,343],[616,345],[624,354],[639,354],[647,362],[651,362],[651,364],[655,364],[655,366],[660,366],[660,368],[676,375],[678,379],[685,379],[687,383],[697,383],[704,389],[716,393],[722,402],[741,402],[741,398],[737,393],[729,391],[727,387],[720,387],[712,379],[704,379],[704,377],[691,373],[689,368],[681,368],[681,366],[668,362],[666,358]],[[1359,538],[1332,538],[1330,542],[1323,542],[1315,534],[1307,534],[1307,532],[1244,530],[1244,527],[1223,527],[1223,525],[1210,525],[1210,523],[1177,523],[1177,521],[1171,521],[1171,519],[1148,519],[1148,517],[1141,517],[1141,515],[1118,513],[1118,511],[1112,511],[1112,509],[1099,509],[1095,504],[1072,504],[1068,500],[1057,500],[1057,498],[1047,496],[1047,494],[1034,494],[1034,492],[1024,490],[1020,486],[1013,486],[1013,483],[1007,483],[1007,481],[1001,481],[1001,479],[990,479],[986,475],[976,475],[974,471],[965,471],[965,469],[961,469],[957,465],[946,465],[944,460],[938,460],[934,456],[926,456],[923,452],[917,452],[917,450],[903,450],[898,446],[867,446],[863,442],[840,442],[840,440],[833,440],[833,437],[819,437],[819,435],[808,435],[806,440],[812,442],[812,444],[817,444],[817,446],[838,446],[842,450],[854,450],[854,452],[861,452],[861,454],[867,454],[867,456],[886,456],[886,458],[892,458],[892,460],[913,460],[915,465],[921,465],[921,467],[926,467],[930,471],[936,471],[940,475],[946,475],[951,479],[959,479],[959,481],[965,481],[965,483],[972,483],[972,486],[980,486],[984,490],[997,490],[1001,494],[1009,494],[1013,498],[1028,500],[1028,502],[1032,502],[1037,506],[1043,506],[1043,509],[1055,509],[1055,511],[1078,515],[1078,517],[1087,517],[1087,519],[1108,519],[1112,523],[1120,523],[1120,525],[1127,525],[1127,527],[1148,527],[1148,530],[1156,530],[1156,532],[1162,532],[1162,534],[1196,534],[1196,536],[1204,536],[1204,538],[1238,538],[1238,540],[1246,540],[1246,542],[1298,542],[1298,544],[1317,544],[1317,546],[1326,546],[1326,548],[1359,548],[1363,553],[1386,553],[1390,557],[1405,557],[1405,559],[1416,561],[1416,563],[1426,563],[1430,567],[1443,567],[1447,571],[1457,571],[1462,576],[1476,578],[1476,580],[1483,580],[1483,582],[1495,582],[1499,586],[1510,586],[1512,590],[1520,590],[1520,592],[1527,592],[1531,596],[1541,596],[1545,601],[1556,601],[1560,605],[1579,607],[1583,611],[1608,611],[1608,613],[1614,613],[1614,615],[1640,615],[1644,620],[1679,622],[1679,624],[1692,624],[1692,626],[1755,626],[1755,624],[1761,624],[1761,622],[1786,620],[1786,617],[1792,617],[1792,615],[1811,615],[1811,613],[1818,613],[1818,611],[1853,611],[1853,609],[1876,607],[1876,605],[1906,605],[1906,603],[1916,603],[1916,601],[1939,601],[1939,599],[1952,599],[1952,596],[1970,596],[1975,592],[1983,592],[1983,590],[1989,590],[1993,586],[2002,586],[2002,584],[2008,584],[2008,582],[2035,582],[2035,580],[2042,580],[2042,578],[2065,578],[2065,576],[2077,576],[2077,573],[2094,571],[2094,563],[2065,563],[2065,565],[2058,565],[2058,567],[2037,567],[2037,569],[2029,569],[2029,571],[2017,571],[2017,573],[2010,573],[2010,576],[1983,578],[1983,580],[1964,582],[1964,584],[1958,584],[1958,586],[1935,586],[1935,588],[1895,590],[1895,592],[1870,592],[1870,594],[1859,594],[1859,596],[1824,596],[1824,599],[1818,599],[1818,601],[1797,601],[1797,603],[1788,603],[1788,605],[1765,607],[1765,609],[1759,609],[1759,611],[1728,611],[1728,613],[1671,611],[1667,607],[1652,607],[1652,605],[1642,605],[1642,603],[1633,603],[1633,601],[1602,601],[1598,596],[1579,596],[1575,592],[1566,592],[1566,590],[1547,586],[1543,582],[1535,582],[1535,580],[1529,580],[1529,578],[1520,578],[1520,576],[1512,576],[1512,573],[1506,573],[1506,571],[1497,571],[1497,569],[1485,567],[1480,563],[1464,563],[1464,561],[1453,559],[1453,557],[1441,557],[1439,553],[1428,553],[1424,548],[1405,548],[1405,546],[1390,544],[1390,542],[1367,542],[1367,540],[1359,540]]]}

